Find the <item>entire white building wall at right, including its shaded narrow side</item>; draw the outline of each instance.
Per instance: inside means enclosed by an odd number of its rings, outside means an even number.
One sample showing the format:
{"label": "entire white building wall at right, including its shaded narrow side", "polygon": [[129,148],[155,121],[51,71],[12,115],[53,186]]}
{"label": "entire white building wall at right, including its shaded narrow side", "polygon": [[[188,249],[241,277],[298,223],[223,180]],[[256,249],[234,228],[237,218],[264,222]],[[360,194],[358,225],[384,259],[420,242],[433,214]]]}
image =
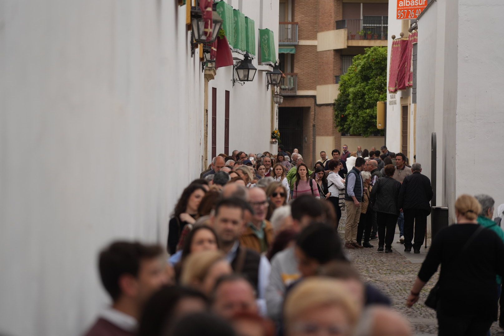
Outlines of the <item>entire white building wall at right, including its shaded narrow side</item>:
{"label": "entire white building wall at right, including its shaded narrow side", "polygon": [[[456,197],[485,193],[504,203],[498,154],[504,143],[504,37],[491,36],[504,19],[498,0],[434,2],[419,19],[417,161],[429,162],[437,133],[437,205],[454,220]],[[481,22],[485,22],[484,25]]]}

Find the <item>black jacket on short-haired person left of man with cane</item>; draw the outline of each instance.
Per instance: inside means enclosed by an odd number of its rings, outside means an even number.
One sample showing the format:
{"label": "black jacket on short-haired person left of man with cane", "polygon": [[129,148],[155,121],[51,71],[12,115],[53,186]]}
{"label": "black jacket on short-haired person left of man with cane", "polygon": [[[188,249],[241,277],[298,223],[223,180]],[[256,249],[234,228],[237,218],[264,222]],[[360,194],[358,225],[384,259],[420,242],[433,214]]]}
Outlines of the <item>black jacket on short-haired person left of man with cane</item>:
{"label": "black jacket on short-haired person left of man with cane", "polygon": [[398,196],[400,190],[401,182],[390,176],[378,179],[369,198],[369,202],[373,204],[373,210],[399,215]]}

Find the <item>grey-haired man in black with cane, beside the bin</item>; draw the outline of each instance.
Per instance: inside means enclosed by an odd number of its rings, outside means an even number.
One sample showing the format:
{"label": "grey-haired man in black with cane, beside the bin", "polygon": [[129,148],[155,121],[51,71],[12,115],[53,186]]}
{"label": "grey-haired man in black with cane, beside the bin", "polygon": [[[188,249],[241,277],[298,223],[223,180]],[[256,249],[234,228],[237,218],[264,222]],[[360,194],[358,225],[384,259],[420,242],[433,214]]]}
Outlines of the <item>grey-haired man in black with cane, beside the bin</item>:
{"label": "grey-haired man in black with cane, beside the bin", "polygon": [[[420,163],[413,163],[411,171],[413,174],[404,178],[399,192],[399,208],[402,208],[404,213],[404,251],[411,252],[413,246],[414,253],[420,253],[420,246],[425,238],[427,216],[430,214],[432,187],[429,178],[420,174]],[[415,239],[412,245],[413,223]]]}

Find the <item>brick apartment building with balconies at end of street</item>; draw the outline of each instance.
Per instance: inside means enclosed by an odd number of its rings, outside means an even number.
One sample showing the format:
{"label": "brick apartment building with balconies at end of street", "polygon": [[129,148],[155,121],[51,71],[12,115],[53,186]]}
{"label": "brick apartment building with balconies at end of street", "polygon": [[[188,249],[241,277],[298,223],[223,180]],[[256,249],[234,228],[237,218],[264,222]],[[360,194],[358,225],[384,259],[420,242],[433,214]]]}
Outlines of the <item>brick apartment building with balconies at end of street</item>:
{"label": "brick apartment building with balconies at end of street", "polygon": [[279,24],[286,75],[278,111],[281,141],[313,166],[321,150],[328,156],[341,150],[333,114],[339,78],[364,48],[387,46],[388,0],[280,0]]}

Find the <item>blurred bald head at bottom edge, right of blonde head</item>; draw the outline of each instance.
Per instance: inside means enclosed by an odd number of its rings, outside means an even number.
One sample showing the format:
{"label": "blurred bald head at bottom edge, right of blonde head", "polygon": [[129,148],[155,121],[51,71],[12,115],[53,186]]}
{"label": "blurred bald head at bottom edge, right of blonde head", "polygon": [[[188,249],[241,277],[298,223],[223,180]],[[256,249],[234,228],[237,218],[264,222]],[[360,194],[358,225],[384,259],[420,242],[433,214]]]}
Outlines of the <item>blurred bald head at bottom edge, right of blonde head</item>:
{"label": "blurred bald head at bottom edge, right of blonde head", "polygon": [[374,306],[365,309],[355,336],[412,336],[409,321],[392,308]]}

